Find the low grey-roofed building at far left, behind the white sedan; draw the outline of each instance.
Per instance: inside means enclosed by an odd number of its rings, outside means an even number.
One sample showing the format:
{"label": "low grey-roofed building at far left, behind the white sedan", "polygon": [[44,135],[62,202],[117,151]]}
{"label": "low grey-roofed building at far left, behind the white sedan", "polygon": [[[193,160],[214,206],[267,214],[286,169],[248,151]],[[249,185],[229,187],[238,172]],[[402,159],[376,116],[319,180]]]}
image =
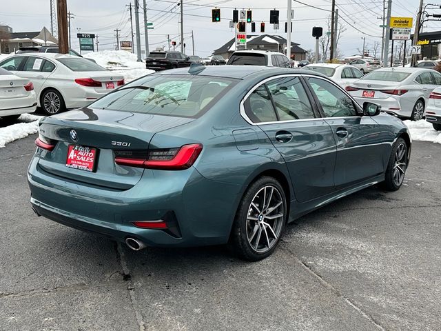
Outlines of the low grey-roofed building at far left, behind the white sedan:
{"label": "low grey-roofed building at far left, behind the white sedan", "polygon": [[58,39],[46,28],[34,32],[13,32],[9,26],[0,26],[0,43],[1,53],[13,53],[26,46],[57,45]]}

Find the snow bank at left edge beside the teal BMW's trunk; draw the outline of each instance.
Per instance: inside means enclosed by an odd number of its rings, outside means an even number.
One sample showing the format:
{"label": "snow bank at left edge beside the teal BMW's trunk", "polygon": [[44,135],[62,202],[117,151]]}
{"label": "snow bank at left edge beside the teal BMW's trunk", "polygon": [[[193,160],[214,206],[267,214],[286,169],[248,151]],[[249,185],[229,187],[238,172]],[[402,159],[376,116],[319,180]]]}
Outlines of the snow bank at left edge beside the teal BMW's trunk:
{"label": "snow bank at left edge beside the teal BMW's trunk", "polygon": [[14,140],[28,137],[29,134],[37,133],[41,116],[32,114],[22,114],[19,121],[23,123],[13,124],[6,128],[0,128],[0,148],[5,147],[7,143]]}

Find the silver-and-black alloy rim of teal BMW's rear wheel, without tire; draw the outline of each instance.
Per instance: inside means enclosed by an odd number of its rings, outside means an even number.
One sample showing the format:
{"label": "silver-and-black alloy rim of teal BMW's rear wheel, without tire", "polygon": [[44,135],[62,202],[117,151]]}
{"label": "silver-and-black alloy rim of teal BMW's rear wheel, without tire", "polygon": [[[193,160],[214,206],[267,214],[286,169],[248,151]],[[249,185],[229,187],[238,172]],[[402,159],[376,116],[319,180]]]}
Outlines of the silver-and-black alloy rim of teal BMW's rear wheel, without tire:
{"label": "silver-and-black alloy rim of teal BMW's rear wheel, without tire", "polygon": [[247,239],[251,248],[265,253],[277,243],[283,228],[285,210],[278,188],[267,185],[252,199],[247,214]]}

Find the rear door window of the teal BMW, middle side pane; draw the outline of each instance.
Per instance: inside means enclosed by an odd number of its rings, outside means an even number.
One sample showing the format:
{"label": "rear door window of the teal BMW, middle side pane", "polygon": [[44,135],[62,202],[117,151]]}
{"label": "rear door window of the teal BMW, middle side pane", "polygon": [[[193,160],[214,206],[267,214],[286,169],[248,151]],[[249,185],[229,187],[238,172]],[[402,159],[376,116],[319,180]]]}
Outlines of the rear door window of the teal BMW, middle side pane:
{"label": "rear door window of the teal BMW, middle side pane", "polygon": [[268,88],[280,121],[314,119],[314,110],[298,77],[274,79]]}

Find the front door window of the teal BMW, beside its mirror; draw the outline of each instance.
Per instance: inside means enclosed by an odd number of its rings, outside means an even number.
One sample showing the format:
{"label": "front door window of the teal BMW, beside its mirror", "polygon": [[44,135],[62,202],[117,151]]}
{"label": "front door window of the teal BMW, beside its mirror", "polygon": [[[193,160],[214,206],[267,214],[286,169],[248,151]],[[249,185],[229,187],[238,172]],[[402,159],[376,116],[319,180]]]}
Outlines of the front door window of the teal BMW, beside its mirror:
{"label": "front door window of the teal BMW, beside its mirror", "polygon": [[351,98],[333,83],[314,77],[307,78],[326,117],[356,116],[357,111]]}

